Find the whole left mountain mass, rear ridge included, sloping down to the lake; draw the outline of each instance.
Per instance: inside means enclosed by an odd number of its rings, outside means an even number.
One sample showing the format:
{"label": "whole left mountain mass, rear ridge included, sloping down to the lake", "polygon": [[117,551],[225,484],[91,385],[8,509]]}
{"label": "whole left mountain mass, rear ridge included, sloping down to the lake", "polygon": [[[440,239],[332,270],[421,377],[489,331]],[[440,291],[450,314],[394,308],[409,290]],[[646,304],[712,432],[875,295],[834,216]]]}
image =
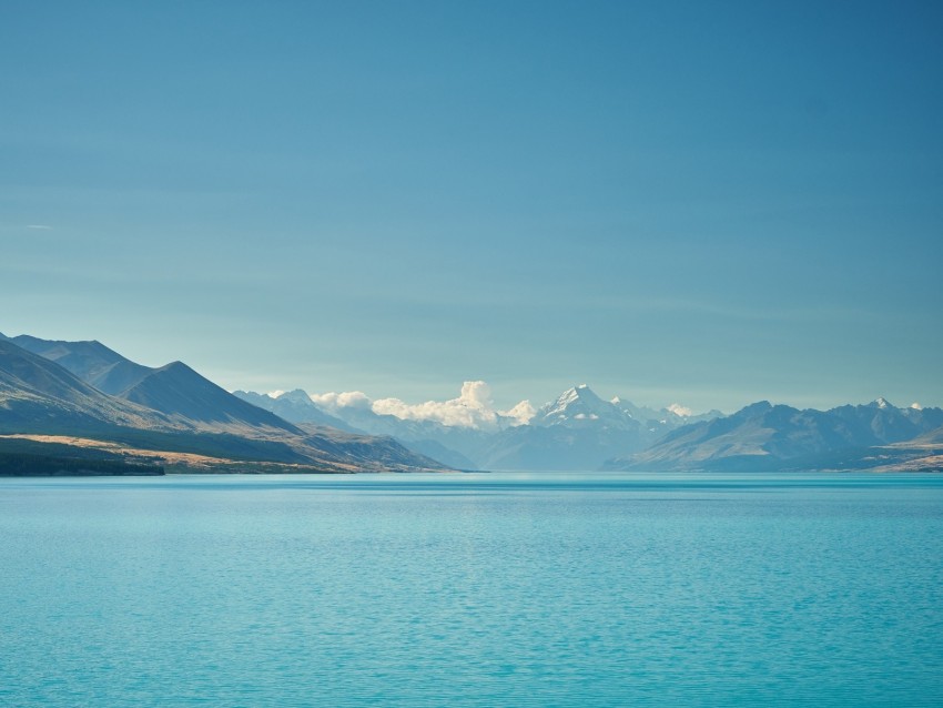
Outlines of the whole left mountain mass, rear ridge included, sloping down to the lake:
{"label": "whole left mountain mass, rear ridge included, sloping down to the lake", "polygon": [[445,468],[389,437],[290,423],[181,362],[149,368],[99,342],[0,335],[0,452],[42,454],[41,442],[182,469]]}

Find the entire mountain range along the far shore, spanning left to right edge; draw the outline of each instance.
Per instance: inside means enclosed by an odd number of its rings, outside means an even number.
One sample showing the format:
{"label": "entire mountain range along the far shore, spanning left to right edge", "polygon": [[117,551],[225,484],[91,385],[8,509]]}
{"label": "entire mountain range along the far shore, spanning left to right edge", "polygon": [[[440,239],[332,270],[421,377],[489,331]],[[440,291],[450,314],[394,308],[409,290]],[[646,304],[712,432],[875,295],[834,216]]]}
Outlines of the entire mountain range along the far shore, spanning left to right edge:
{"label": "entire mountain range along the far shore, spanning left to right edge", "polygon": [[0,335],[0,455],[54,449],[215,472],[943,469],[943,409],[883,398],[693,415],[580,384],[528,404],[526,417],[481,425],[324,399],[231,394],[182,362],[151,368],[99,342]]}

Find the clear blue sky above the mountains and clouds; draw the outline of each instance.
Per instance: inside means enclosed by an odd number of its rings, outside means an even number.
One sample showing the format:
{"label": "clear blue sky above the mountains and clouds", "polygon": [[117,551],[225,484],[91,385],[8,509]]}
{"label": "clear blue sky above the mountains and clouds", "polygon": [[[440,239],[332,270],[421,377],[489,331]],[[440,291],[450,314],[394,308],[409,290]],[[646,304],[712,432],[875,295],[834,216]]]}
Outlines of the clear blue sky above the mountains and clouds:
{"label": "clear blue sky above the mountains and clouds", "polygon": [[943,405],[939,2],[7,2],[0,332],[220,385]]}

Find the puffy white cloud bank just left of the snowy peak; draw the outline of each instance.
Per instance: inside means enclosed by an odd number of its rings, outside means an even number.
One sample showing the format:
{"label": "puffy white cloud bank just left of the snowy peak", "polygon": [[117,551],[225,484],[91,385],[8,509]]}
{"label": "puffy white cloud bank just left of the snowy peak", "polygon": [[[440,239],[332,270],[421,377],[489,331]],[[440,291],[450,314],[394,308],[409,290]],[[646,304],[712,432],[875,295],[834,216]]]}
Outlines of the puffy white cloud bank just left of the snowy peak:
{"label": "puffy white cloud bank just left of the snowy peak", "polygon": [[449,427],[470,427],[494,431],[505,426],[521,425],[534,417],[534,406],[521,401],[510,411],[497,411],[491,401],[491,390],[484,381],[466,381],[457,398],[426,401],[410,404],[399,398],[371,401],[366,394],[349,393],[313,394],[311,399],[328,412],[341,413],[339,408],[368,408],[377,415],[393,415],[403,421],[433,421]]}

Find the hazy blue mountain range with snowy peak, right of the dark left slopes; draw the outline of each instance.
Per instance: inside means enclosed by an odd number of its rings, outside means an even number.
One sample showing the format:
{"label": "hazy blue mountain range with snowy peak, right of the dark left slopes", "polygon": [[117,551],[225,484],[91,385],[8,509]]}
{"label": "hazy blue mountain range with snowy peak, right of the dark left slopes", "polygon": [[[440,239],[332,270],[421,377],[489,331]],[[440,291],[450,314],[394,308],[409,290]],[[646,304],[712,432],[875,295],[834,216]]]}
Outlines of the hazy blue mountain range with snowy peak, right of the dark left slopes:
{"label": "hazy blue mountain range with snowy peak, right of the dark left slopes", "polygon": [[[760,402],[730,416],[652,409],[604,399],[580,384],[536,411],[526,424],[495,429],[403,419],[369,406],[325,409],[303,391],[235,395],[290,421],[331,416],[335,425],[391,435],[464,469],[742,471],[936,469],[943,466],[943,411],[899,408],[883,398],[831,411]],[[339,423],[336,423],[338,422]]]}

